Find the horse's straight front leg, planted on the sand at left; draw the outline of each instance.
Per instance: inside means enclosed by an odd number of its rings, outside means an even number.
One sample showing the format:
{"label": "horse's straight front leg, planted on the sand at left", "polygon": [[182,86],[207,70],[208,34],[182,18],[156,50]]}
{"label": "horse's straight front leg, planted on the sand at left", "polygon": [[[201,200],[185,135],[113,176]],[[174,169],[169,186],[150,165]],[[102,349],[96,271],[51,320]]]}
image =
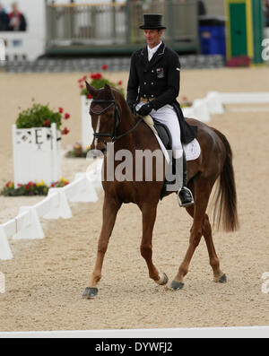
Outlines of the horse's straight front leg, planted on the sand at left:
{"label": "horse's straight front leg, planted on the sand at left", "polygon": [[103,222],[98,241],[96,262],[93,273],[91,274],[89,287],[87,287],[83,292],[82,298],[91,299],[97,296],[97,284],[100,282],[104,256],[108,249],[108,241],[114,228],[117,212],[120,206],[120,203],[117,203],[114,199],[105,196],[103,204]]}

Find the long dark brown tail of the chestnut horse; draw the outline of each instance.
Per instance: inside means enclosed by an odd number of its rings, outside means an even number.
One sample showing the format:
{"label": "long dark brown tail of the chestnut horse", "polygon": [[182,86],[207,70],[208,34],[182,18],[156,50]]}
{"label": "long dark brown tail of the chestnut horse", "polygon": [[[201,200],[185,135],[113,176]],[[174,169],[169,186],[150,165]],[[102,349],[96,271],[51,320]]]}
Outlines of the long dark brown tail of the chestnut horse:
{"label": "long dark brown tail of the chestnut horse", "polygon": [[220,131],[215,129],[214,131],[221,138],[221,142],[225,146],[226,159],[221,171],[219,186],[216,190],[213,221],[217,222],[218,228],[220,228],[222,222],[222,228],[224,230],[234,231],[239,229],[239,217],[237,209],[237,190],[232,166],[232,152],[227,138],[222,135]]}

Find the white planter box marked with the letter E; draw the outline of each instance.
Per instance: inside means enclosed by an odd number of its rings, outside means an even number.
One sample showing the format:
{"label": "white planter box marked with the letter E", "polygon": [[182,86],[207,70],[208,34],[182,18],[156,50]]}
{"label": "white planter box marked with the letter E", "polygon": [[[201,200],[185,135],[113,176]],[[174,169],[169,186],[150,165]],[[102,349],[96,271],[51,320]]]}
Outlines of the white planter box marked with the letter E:
{"label": "white planter box marked with the letter E", "polygon": [[48,186],[62,177],[60,138],[51,127],[17,128],[13,125],[14,185],[44,181]]}

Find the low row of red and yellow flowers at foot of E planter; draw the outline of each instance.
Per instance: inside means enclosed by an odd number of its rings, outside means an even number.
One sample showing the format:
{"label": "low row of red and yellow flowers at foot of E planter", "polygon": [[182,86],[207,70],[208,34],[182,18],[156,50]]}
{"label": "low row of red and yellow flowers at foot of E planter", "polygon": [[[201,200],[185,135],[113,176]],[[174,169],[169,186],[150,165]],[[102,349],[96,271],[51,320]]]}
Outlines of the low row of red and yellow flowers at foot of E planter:
{"label": "low row of red and yellow flowers at foot of E planter", "polygon": [[[52,183],[50,187],[65,187],[67,184],[69,184],[68,180],[61,178],[59,181]],[[5,184],[3,190],[1,191],[1,195],[47,195],[48,189],[48,185],[45,184],[43,180],[39,183],[29,182],[27,184],[18,184],[17,188],[14,187],[14,182],[10,180]]]}

